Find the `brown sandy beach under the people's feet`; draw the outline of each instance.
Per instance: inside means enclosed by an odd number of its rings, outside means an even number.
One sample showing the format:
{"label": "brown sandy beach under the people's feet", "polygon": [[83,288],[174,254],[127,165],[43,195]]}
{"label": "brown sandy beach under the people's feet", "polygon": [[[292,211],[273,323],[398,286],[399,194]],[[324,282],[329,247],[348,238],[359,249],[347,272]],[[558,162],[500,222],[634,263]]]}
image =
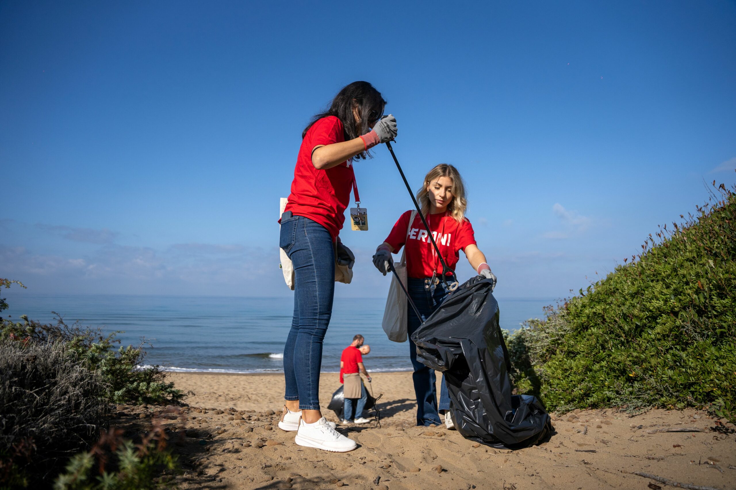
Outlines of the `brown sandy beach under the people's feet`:
{"label": "brown sandy beach under the people's feet", "polygon": [[[657,489],[679,483],[732,489],[736,482],[733,425],[704,411],[650,410],[635,417],[616,411],[553,414],[555,433],[523,450],[495,450],[455,430],[414,426],[410,372],[377,373],[373,389],[381,426],[340,428],[358,442],[350,453],[294,444],[276,426],[283,375],[171,373],[196,394],[178,411],[118,406],[117,425],[140,430],[158,417],[174,434],[184,489]],[[338,385],[321,379],[323,406]],[[325,410],[328,419],[336,420]],[[725,421],[723,421],[725,422]],[[136,429],[137,428],[137,429]],[[665,432],[696,428],[702,432]],[[650,483],[657,486],[649,486]]]}

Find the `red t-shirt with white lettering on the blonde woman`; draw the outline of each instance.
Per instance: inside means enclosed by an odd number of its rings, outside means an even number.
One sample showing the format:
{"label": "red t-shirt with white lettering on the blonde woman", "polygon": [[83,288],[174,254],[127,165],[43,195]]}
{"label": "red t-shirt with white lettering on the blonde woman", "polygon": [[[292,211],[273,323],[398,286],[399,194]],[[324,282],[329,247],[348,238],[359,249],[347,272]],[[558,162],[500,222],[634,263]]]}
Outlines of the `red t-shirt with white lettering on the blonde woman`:
{"label": "red t-shirt with white lettering on the blonde woman", "polygon": [[[414,217],[409,234],[406,234],[410,216],[411,211],[401,215],[386,238],[386,243],[394,248],[394,252],[406,245],[406,275],[409,277],[420,279],[432,277],[434,270],[438,275],[442,274],[442,264],[418,214]],[[442,259],[445,259],[447,267],[454,270],[460,259],[460,251],[464,251],[468,245],[475,245],[473,226],[467,218],[458,223],[447,212],[428,215],[426,220],[439,253],[442,253]]]}

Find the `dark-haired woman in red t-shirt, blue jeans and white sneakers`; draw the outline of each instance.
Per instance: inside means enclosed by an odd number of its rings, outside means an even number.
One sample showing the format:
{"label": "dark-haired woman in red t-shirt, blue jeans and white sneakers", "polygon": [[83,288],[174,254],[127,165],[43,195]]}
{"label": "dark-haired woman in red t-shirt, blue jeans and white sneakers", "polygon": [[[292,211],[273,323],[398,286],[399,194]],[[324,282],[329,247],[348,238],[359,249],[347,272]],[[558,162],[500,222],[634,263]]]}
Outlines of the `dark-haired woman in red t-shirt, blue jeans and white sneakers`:
{"label": "dark-haired woman in red t-shirt, blue jeans and white sneakers", "polygon": [[[294,318],[283,352],[286,404],[279,427],[296,430],[301,446],[345,452],[353,440],[319,410],[322,339],[332,314],[335,253],[350,204],[353,159],[396,136],[396,119],[382,117],[386,101],[368,82],[353,82],[302,132],[289,203],[281,215],[279,246],[294,266]],[[349,253],[349,251],[347,251]],[[352,253],[350,253],[352,255]]]}

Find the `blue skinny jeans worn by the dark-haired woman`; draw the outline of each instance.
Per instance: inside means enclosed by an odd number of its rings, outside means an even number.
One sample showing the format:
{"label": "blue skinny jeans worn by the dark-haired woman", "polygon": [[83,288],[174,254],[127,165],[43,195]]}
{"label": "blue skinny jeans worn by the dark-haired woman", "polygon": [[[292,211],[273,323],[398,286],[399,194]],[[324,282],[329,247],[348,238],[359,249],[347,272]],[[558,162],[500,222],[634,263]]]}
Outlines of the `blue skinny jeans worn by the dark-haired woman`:
{"label": "blue skinny jeans worn by the dark-haired woman", "polygon": [[302,216],[281,220],[279,246],[294,265],[294,317],[283,348],[286,400],[319,410],[319,370],[335,295],[335,251],[327,228]]}

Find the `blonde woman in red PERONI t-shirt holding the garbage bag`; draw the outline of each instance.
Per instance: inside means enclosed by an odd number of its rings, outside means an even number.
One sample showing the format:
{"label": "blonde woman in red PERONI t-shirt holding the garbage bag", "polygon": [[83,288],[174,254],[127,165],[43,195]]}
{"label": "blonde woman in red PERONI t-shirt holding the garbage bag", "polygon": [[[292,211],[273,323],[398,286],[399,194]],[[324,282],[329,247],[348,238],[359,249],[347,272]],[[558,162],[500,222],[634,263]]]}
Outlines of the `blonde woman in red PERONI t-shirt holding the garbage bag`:
{"label": "blonde woman in red PERONI t-shirt holding the garbage bag", "polygon": [[[486,256],[475,244],[473,226],[465,217],[467,201],[458,170],[446,163],[441,163],[430,170],[417,192],[417,201],[422,207],[422,214],[447,267],[454,269],[460,258],[460,251],[463,251],[470,265],[478,271],[478,275],[492,279],[495,286],[496,277],[486,263]],[[413,214],[416,215],[415,212],[407,211],[401,215],[386,241],[378,245],[373,256],[373,264],[386,275],[386,262],[392,260],[391,253],[397,253],[401,247],[406,247],[408,292],[422,314],[421,318],[417,318],[414,309],[408,307],[409,357],[414,366],[417,425],[439,425],[442,422],[437,411],[434,370],[417,361],[417,346],[411,342],[411,334],[447,298],[452,279],[449,271],[442,270],[442,263],[428,238],[421,218],[415,216],[414,222],[409,225],[409,219]],[[447,276],[447,284],[442,281],[443,275]],[[450,397],[447,395],[443,378],[439,411],[446,412],[445,423],[447,428],[452,428],[449,410]]]}

